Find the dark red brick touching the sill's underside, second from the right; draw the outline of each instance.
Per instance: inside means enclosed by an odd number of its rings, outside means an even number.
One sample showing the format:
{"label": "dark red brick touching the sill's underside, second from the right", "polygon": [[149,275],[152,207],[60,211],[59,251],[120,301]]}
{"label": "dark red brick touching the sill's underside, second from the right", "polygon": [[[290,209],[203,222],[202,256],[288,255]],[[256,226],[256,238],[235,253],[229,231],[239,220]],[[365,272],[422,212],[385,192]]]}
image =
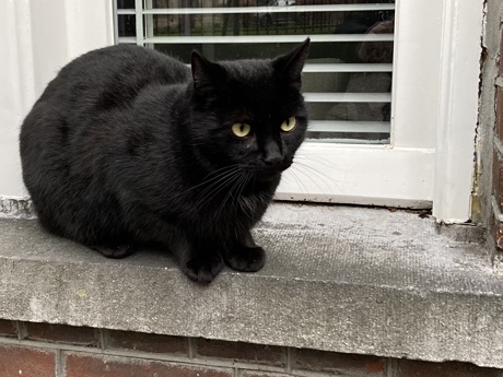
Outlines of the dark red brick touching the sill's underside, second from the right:
{"label": "dark red brick touching the sill's underside, second from the right", "polygon": [[384,361],[381,357],[315,350],[296,350],[294,368],[365,376],[385,375]]}

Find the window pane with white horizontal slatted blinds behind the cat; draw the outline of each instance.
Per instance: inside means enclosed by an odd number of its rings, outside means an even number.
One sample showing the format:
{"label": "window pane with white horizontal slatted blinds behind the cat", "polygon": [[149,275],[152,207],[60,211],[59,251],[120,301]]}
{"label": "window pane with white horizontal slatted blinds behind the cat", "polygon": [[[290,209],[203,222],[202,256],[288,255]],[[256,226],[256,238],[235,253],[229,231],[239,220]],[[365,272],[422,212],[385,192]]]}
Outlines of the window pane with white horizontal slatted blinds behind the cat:
{"label": "window pane with white horizontal slatted blinds behind the cat", "polygon": [[394,0],[114,0],[115,39],[178,57],[272,58],[311,37],[307,142],[390,142]]}

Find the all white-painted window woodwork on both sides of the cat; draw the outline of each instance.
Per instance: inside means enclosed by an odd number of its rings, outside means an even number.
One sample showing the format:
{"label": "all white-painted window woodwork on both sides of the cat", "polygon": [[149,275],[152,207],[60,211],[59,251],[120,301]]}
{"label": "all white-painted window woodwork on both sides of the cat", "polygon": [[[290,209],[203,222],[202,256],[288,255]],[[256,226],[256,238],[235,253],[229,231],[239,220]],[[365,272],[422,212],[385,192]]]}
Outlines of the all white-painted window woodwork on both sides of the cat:
{"label": "all white-painted window woodwork on both sides of the cat", "polygon": [[[21,172],[12,148],[17,145],[19,125],[57,70],[86,50],[114,43],[113,1],[37,3],[8,1],[1,7],[8,39],[0,50],[11,52],[0,62],[0,82],[7,82],[0,94],[10,104],[0,106],[2,122],[12,126],[0,145],[11,145],[0,172],[8,165]],[[482,15],[483,0],[397,0],[391,143],[306,143],[301,154],[316,157],[303,163],[319,179],[314,182],[305,172],[297,173],[299,185],[286,176],[278,198],[433,204],[438,221],[469,220]],[[0,193],[25,196],[21,176],[14,180],[0,182]]]}

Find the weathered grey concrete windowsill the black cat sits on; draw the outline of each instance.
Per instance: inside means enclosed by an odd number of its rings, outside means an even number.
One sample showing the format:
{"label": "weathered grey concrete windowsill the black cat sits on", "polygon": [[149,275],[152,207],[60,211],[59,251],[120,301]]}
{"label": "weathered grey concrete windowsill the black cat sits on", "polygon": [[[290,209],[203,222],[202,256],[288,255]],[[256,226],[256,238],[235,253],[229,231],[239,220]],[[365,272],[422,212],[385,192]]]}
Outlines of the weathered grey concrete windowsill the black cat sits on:
{"label": "weathered grey concrete windowsill the black cat sits on", "polygon": [[262,271],[200,286],[167,254],[109,260],[0,220],[0,318],[503,367],[503,276],[433,220],[274,204],[256,235]]}

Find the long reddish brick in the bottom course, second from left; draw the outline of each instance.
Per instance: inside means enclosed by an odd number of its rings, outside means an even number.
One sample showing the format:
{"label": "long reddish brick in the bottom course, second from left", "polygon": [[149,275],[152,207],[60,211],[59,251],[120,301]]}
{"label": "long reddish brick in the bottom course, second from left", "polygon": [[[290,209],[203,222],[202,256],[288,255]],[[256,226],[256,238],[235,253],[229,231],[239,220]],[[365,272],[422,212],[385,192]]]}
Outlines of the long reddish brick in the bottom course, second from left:
{"label": "long reddish brick in the bottom course, second from left", "polygon": [[206,368],[132,357],[65,355],[67,377],[232,377],[232,369]]}

